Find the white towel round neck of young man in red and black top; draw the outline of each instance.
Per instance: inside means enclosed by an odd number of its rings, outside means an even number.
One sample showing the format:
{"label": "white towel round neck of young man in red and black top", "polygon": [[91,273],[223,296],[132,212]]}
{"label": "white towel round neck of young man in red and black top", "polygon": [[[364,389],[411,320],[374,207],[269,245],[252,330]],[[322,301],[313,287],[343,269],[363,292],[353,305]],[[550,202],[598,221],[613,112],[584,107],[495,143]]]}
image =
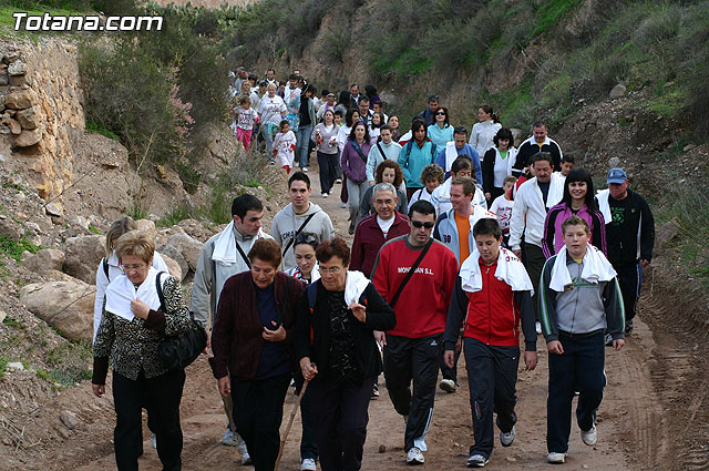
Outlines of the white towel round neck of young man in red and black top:
{"label": "white towel round neck of young man in red and black top", "polygon": [[[480,272],[480,252],[477,252],[477,248],[463,262],[459,276],[464,291],[476,293],[483,289],[483,277]],[[510,285],[513,291],[531,291],[530,294],[534,295],[532,280],[524,265],[522,265],[522,260],[504,247],[500,247],[495,278]]]}

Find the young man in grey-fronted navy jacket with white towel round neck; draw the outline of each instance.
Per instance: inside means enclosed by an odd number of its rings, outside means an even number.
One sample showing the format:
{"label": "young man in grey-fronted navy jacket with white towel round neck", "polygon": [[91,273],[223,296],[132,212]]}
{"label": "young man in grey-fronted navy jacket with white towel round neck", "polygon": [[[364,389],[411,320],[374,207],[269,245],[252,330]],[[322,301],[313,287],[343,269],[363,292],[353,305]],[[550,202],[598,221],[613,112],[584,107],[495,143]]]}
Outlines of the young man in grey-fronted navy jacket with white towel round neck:
{"label": "young man in grey-fronted navy jacket with white towel round neck", "polygon": [[[540,317],[549,352],[549,463],[566,459],[574,391],[579,391],[576,419],[582,440],[596,444],[596,411],[606,386],[604,330],[613,337],[614,350],[625,344],[623,297],[613,266],[588,245],[590,231],[583,218],[569,217],[562,231],[565,246],[546,260],[540,280]],[[553,273],[563,275],[555,279]]]}

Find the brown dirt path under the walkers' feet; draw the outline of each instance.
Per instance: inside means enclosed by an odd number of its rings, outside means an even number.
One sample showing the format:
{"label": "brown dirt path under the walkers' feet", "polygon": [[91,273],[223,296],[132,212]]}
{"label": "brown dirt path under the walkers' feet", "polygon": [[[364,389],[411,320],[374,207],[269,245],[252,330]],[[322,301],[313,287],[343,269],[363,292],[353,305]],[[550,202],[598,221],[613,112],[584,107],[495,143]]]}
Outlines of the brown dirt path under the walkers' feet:
{"label": "brown dirt path under the walkers' feet", "polygon": [[[327,211],[339,235],[347,236],[347,209],[340,207],[338,195],[319,196],[317,166],[310,167],[314,181],[312,202]],[[339,191],[339,185],[337,188]],[[703,406],[709,381],[708,347],[690,324],[677,321],[672,299],[655,290],[656,280],[646,283],[640,303],[640,318],[626,347],[615,352],[607,349],[608,386],[598,413],[598,444],[582,443],[574,424],[567,469],[590,470],[679,470],[709,467],[709,409]],[[660,285],[660,280],[657,280]],[[517,439],[511,448],[495,447],[492,470],[532,470],[548,468],[546,457],[546,381],[547,361],[544,341],[537,340],[540,365],[535,371],[520,370],[517,383]],[[428,438],[427,463],[421,469],[464,468],[472,442],[470,403],[464,361],[459,366],[460,389],[455,393],[438,391],[433,424]],[[364,447],[363,470],[408,469],[403,453],[403,420],[393,410],[381,387],[381,398],[370,403],[370,422]],[[107,390],[110,391],[110,385]],[[51,409],[54,428],[61,410],[78,412],[81,424],[64,432],[61,440],[42,441],[35,447],[21,447],[14,454],[0,460],[0,470],[66,470],[115,469],[112,430],[115,418],[109,393],[97,399],[89,382],[38,401],[38,408]],[[288,395],[285,422],[292,410],[294,395]],[[317,406],[315,406],[317,407]],[[30,417],[32,411],[28,410]],[[38,414],[39,416],[39,414]],[[42,416],[45,417],[45,416]],[[1,419],[1,418],[0,418]],[[38,419],[47,420],[47,419]],[[0,421],[1,424],[4,426]],[[187,369],[187,382],[182,402],[184,432],[183,461],[185,470],[246,469],[239,464],[235,448],[219,443],[225,429],[222,401],[206,359],[199,358]],[[37,426],[37,423],[34,423]],[[144,429],[144,437],[150,437]],[[284,470],[299,469],[300,420],[296,417],[281,462]],[[386,447],[386,451],[380,452]],[[160,470],[160,461],[150,440],[141,470]]]}

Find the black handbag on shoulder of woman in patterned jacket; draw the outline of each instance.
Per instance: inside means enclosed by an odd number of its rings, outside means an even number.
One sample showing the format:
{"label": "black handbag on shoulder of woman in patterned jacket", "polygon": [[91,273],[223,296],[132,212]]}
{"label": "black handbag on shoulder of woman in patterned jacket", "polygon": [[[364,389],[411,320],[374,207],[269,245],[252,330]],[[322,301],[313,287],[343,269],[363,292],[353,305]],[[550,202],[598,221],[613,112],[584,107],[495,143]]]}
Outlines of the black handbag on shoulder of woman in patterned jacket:
{"label": "black handbag on shoulder of woman in patterned jacket", "polygon": [[[160,283],[161,272],[155,277],[155,287],[160,298],[161,310],[165,313],[165,298],[163,287]],[[168,370],[183,369],[192,365],[194,360],[207,347],[207,332],[195,317],[189,313],[189,329],[175,336],[166,336],[157,345],[157,355]]]}

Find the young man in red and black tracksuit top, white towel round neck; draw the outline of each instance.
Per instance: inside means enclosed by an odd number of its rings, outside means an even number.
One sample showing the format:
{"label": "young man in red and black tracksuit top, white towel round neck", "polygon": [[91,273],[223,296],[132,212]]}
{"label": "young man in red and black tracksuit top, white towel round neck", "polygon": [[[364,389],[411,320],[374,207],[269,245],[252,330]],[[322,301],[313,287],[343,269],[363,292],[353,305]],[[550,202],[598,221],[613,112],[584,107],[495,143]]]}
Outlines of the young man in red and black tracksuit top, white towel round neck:
{"label": "young man in red and black tracksuit top, white towel round neck", "polygon": [[515,438],[515,383],[520,362],[520,319],[524,330],[524,365],[536,367],[536,331],[532,281],[522,262],[502,244],[496,219],[483,218],[473,226],[475,249],[461,266],[445,324],[444,360],[453,365],[461,326],[470,386],[475,444],[469,468],[482,468],[492,453],[493,411],[497,412],[500,442],[510,447]]}

